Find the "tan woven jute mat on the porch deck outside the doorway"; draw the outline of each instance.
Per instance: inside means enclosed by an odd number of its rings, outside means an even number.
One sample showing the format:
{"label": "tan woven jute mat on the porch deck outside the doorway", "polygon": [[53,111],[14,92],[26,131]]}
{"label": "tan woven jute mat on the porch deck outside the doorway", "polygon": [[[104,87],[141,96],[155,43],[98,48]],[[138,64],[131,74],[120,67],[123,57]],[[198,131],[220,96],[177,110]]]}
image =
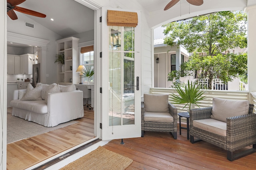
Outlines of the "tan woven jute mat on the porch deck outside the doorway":
{"label": "tan woven jute mat on the porch deck outside the doorway", "polygon": [[130,158],[98,147],[60,170],[125,170],[130,164]]}

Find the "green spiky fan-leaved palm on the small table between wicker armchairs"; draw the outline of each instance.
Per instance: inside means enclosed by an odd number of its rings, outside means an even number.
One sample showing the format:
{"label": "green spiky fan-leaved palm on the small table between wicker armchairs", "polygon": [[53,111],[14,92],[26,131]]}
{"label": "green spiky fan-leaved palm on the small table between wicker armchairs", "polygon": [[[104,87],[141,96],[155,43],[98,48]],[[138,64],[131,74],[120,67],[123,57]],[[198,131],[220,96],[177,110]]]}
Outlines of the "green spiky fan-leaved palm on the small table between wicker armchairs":
{"label": "green spiky fan-leaved palm on the small table between wicker armchairs", "polygon": [[174,104],[186,104],[182,109],[188,106],[188,114],[192,104],[198,106],[198,104],[200,103],[199,101],[203,100],[206,97],[202,96],[204,94],[204,91],[200,89],[200,86],[198,86],[197,84],[192,84],[192,82],[190,83],[189,80],[184,90],[179,85],[177,85],[175,89],[177,90],[179,95],[170,94],[173,97],[171,101]]}

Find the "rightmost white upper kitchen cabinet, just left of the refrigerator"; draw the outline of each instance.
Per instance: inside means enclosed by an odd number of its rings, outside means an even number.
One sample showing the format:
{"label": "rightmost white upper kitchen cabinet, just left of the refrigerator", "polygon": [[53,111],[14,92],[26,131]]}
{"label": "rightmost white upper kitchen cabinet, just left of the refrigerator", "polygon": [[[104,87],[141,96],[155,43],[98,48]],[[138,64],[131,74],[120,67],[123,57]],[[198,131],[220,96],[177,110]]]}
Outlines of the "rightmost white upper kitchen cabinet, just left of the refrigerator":
{"label": "rightmost white upper kitchen cabinet, just left of the refrigerator", "polygon": [[33,54],[20,55],[20,74],[32,74]]}

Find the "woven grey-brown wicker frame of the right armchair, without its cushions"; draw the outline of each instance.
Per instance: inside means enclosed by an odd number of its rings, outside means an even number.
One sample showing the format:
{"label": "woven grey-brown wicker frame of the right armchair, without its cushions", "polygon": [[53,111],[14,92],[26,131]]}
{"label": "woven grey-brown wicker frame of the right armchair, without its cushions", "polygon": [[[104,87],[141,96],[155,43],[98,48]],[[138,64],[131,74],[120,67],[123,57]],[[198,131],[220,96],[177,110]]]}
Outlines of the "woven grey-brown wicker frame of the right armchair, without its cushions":
{"label": "woven grey-brown wicker frame of the right armchair, without its cushions", "polygon": [[[212,107],[190,110],[190,142],[206,141],[227,150],[227,159],[232,161],[256,152],[256,114],[252,113],[253,105],[249,106],[249,114],[226,118],[226,137],[193,126],[195,120],[211,119]],[[204,121],[204,120],[202,120]],[[194,141],[194,137],[199,140]],[[236,154],[234,151],[252,145],[251,149]]]}

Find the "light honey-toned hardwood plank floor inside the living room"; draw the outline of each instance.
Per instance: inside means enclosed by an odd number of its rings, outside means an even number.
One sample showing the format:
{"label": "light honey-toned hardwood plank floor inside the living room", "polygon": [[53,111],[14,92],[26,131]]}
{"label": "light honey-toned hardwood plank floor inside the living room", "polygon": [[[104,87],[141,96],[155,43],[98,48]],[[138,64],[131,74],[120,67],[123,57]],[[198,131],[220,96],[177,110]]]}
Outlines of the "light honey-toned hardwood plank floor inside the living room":
{"label": "light honey-toned hardwood plank floor inside the living room", "polygon": [[[12,113],[12,107],[7,108]],[[94,111],[84,107],[79,123],[7,144],[7,170],[23,170],[94,137]],[[8,123],[8,122],[7,122]]]}

